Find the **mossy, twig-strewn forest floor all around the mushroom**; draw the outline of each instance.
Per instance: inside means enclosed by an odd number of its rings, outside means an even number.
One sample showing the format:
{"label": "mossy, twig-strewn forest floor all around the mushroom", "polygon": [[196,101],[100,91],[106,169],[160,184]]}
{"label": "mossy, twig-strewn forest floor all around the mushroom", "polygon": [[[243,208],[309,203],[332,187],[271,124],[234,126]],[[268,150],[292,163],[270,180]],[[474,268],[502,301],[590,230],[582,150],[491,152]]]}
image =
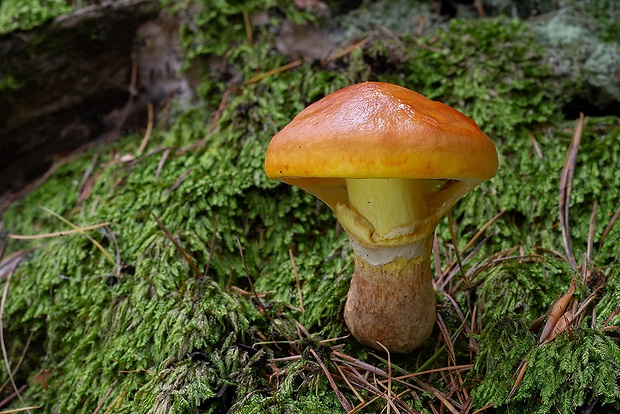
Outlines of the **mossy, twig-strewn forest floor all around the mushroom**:
{"label": "mossy, twig-strewn forest floor all around the mushroom", "polygon": [[[165,2],[132,125],[101,114],[3,198],[0,412],[620,410],[620,12],[516,4]],[[437,323],[404,355],[348,334],[346,234],[264,172],[363,81],[458,109],[500,162],[437,228]]]}

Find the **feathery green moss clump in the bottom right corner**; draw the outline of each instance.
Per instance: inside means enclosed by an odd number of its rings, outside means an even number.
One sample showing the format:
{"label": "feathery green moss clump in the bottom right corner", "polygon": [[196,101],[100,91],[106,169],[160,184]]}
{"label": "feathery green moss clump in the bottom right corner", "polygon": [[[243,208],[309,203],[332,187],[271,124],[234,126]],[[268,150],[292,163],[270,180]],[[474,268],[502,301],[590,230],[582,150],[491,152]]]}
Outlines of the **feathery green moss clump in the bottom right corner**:
{"label": "feathery green moss clump in the bottom right corner", "polygon": [[620,347],[601,331],[579,327],[539,346],[526,324],[500,320],[485,328],[479,344],[472,370],[482,378],[472,391],[477,407],[541,414],[620,408]]}

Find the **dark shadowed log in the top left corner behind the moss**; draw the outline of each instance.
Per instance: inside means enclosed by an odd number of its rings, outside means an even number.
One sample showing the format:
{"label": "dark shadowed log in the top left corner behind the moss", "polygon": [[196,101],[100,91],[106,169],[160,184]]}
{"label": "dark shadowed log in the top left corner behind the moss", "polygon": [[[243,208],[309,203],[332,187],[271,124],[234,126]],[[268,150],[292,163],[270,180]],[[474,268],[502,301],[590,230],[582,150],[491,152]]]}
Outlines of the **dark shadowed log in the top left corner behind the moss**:
{"label": "dark shadowed log in the top left corner behind the moss", "polygon": [[15,86],[0,90],[0,193],[116,127],[106,116],[128,102],[136,32],[160,10],[105,1],[0,36],[0,81]]}

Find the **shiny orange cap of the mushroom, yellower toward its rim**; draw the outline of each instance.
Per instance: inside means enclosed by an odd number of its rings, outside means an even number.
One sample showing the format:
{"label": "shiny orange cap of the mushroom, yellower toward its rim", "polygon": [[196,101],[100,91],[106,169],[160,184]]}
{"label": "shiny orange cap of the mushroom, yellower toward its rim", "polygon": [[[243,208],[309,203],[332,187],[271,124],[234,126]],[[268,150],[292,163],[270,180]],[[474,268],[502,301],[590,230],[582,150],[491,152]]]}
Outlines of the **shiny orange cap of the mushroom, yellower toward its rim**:
{"label": "shiny orange cap of the mushroom, yellower toward its rim", "polygon": [[[401,86],[364,82],[301,111],[276,134],[269,178],[302,188],[317,178],[450,179],[480,182],[498,168],[495,146],[457,110]],[[342,179],[342,183],[340,180]]]}

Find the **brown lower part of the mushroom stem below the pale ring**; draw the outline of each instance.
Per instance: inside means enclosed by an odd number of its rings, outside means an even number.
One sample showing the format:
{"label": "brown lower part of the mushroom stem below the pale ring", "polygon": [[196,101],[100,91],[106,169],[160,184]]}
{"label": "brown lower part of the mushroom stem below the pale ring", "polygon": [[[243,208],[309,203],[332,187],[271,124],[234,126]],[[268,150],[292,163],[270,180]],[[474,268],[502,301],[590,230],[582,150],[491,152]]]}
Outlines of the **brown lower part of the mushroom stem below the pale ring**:
{"label": "brown lower part of the mushroom stem below the pale ring", "polygon": [[344,319],[359,342],[381,350],[379,341],[391,352],[406,353],[430,337],[436,318],[431,240],[423,240],[425,252],[409,260],[376,266],[355,255]]}

